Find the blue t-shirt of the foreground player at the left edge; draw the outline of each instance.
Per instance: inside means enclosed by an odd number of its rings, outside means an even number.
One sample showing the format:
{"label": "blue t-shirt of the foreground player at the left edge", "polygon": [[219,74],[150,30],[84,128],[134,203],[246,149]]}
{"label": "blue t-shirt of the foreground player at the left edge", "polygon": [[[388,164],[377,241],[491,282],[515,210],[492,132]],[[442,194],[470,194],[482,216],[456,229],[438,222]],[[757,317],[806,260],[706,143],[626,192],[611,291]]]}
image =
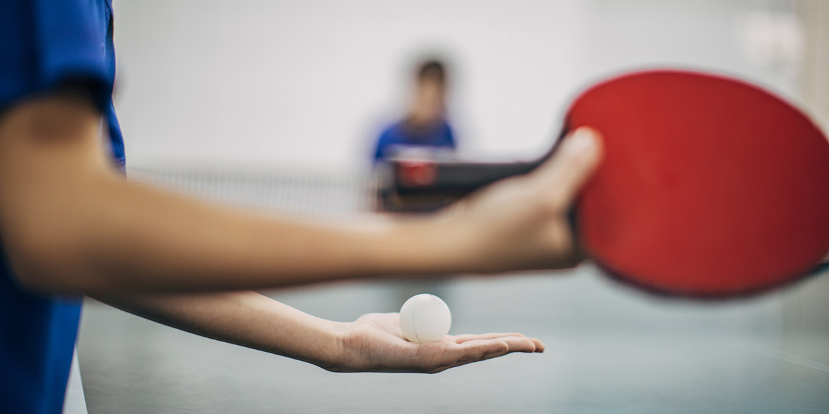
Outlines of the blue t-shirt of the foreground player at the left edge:
{"label": "blue t-shirt of the foreground player at the left edge", "polygon": [[[0,0],[0,113],[65,84],[83,85],[104,116],[114,161],[124,166],[112,104],[112,30],[111,0]],[[81,298],[23,289],[2,243],[14,240],[0,241],[0,412],[57,414]]]}

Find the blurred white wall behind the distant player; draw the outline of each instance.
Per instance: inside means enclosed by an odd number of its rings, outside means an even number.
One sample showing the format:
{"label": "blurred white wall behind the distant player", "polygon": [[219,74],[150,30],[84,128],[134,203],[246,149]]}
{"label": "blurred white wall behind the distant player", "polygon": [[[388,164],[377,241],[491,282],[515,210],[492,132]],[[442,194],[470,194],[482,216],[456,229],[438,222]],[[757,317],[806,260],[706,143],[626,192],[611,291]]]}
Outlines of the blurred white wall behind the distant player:
{"label": "blurred white wall behind the distant player", "polygon": [[[366,166],[410,63],[452,58],[463,152],[533,157],[579,89],[659,65],[748,77],[786,94],[795,75],[752,62],[740,22],[772,0],[115,1],[116,105],[131,166]],[[761,62],[762,63],[762,62]]]}

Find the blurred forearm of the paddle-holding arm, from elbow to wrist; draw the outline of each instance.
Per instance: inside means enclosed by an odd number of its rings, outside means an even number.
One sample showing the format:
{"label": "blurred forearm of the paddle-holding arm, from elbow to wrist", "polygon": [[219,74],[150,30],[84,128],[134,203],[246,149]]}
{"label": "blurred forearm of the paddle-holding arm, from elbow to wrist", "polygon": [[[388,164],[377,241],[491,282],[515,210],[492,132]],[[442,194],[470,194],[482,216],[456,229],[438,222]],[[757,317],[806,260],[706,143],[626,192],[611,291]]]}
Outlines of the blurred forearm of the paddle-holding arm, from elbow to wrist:
{"label": "blurred forearm of the paddle-holding arm, from elbow to wrist", "polygon": [[83,233],[83,244],[67,255],[89,278],[85,291],[255,289],[454,270],[452,241],[439,238],[439,224],[429,220],[310,222],[123,180],[102,187],[85,198],[99,200],[78,206],[77,221],[95,231]]}

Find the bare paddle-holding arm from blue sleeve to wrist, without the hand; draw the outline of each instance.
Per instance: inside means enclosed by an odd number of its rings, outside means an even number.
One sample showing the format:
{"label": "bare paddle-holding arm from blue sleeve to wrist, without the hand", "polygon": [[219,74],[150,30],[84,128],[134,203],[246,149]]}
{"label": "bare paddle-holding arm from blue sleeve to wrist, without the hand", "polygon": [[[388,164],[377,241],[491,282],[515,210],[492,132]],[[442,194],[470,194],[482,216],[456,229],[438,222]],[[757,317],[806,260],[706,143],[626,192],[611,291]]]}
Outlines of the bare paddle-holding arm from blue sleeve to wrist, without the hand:
{"label": "bare paddle-holding arm from blue sleeve to wrist, without the hand", "polygon": [[104,156],[98,113],[75,96],[0,114],[0,236],[37,290],[214,291],[456,270],[452,241],[435,229],[266,217],[127,181]]}

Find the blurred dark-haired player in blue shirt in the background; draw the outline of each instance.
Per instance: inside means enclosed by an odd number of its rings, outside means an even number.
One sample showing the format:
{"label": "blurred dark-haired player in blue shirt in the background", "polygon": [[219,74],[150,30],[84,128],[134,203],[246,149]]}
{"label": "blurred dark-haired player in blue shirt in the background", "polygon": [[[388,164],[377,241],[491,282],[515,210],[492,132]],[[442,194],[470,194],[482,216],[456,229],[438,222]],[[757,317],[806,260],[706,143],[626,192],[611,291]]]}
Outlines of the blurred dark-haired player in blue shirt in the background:
{"label": "blurred dark-haired player in blue shirt in the background", "polygon": [[405,152],[407,147],[454,151],[456,144],[445,118],[447,75],[439,60],[419,65],[414,79],[414,96],[408,113],[377,138],[374,162]]}

